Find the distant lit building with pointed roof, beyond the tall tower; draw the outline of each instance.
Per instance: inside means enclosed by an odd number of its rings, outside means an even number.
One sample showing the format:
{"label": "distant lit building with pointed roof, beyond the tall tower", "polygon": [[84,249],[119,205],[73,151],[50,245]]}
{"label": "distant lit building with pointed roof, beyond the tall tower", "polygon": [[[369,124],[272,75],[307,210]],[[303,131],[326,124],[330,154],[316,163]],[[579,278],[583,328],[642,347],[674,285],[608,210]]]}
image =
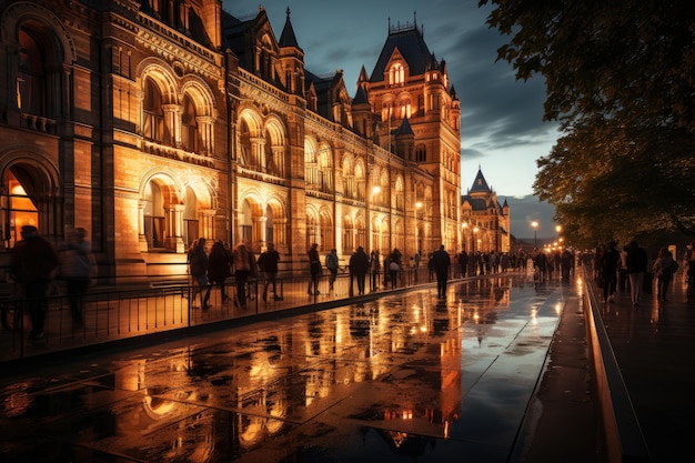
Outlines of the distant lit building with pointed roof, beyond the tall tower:
{"label": "distant lit building with pointed roof, beyond the tall tower", "polygon": [[461,199],[462,243],[466,252],[510,252],[510,205],[500,205],[497,193],[479,169],[473,185]]}

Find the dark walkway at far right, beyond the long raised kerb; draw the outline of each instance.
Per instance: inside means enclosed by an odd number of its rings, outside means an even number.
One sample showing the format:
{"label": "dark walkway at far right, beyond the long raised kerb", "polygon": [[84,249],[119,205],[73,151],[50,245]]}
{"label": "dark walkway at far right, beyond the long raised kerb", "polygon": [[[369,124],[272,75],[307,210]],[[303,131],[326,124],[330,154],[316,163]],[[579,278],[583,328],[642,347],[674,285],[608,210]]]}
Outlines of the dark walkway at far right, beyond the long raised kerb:
{"label": "dark walkway at far right, beyond the long raised kerb", "polygon": [[652,462],[693,460],[695,301],[685,288],[682,269],[665,302],[654,291],[635,309],[618,293],[601,309]]}

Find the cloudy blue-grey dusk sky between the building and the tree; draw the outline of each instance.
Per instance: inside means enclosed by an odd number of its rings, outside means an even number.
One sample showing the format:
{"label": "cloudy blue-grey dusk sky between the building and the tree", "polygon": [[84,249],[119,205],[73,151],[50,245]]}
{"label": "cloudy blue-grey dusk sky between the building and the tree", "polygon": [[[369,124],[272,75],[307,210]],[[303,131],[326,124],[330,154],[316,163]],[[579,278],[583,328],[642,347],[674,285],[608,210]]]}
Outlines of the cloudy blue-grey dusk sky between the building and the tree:
{"label": "cloudy blue-grey dusk sky between the building and the tree", "polygon": [[542,121],[545,85],[541,77],[517,82],[506,61],[495,62],[505,38],[485,24],[491,8],[477,0],[224,0],[229,13],[246,19],[262,6],[279,39],[286,9],[306,69],[326,76],[344,71],[354,97],[362,66],[371,74],[392,26],[423,28],[430,52],[445,60],[461,100],[461,182],[463,193],[479,167],[500,202],[511,207],[512,233],[555,236],[554,208],[533,197],[536,159],[547,155],[558,135]]}

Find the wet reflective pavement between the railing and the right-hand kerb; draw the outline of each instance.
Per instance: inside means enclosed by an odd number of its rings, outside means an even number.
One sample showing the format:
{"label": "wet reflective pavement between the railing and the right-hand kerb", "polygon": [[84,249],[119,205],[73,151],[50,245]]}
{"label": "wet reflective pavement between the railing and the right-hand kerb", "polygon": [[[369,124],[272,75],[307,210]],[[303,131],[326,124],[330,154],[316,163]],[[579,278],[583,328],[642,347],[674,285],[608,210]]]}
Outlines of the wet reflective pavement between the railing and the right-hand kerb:
{"label": "wet reflective pavement between the railing and the right-hand kerb", "polygon": [[523,275],[3,378],[2,461],[505,462],[574,288]]}

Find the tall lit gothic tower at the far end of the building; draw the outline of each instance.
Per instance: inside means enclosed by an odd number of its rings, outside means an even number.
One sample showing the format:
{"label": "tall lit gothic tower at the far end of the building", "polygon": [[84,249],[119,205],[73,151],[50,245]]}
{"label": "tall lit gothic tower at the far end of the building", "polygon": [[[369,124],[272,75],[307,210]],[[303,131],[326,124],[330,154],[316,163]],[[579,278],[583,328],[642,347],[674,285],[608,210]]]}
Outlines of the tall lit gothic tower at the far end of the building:
{"label": "tall lit gothic tower at the far end of the building", "polygon": [[399,152],[397,134],[405,121],[414,135],[413,150],[405,161],[431,174],[433,190],[406,185],[406,214],[417,215],[415,204],[431,217],[432,236],[441,236],[446,249],[457,248],[459,199],[461,194],[460,101],[450,87],[444,60],[437,60],[424,41],[415,18],[405,26],[389,24],[389,37],[369,81],[360,81],[379,117],[379,143]]}

